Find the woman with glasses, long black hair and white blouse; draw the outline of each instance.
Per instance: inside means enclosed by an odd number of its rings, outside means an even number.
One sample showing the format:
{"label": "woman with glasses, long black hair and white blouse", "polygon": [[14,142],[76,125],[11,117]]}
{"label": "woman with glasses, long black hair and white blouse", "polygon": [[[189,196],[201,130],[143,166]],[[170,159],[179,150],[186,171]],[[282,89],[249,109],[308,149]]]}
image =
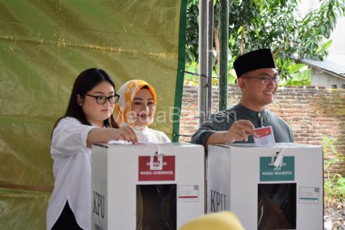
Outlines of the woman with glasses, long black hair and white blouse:
{"label": "woman with glasses, long black hair and white blouse", "polygon": [[91,229],[91,145],[110,140],[137,143],[127,126],[112,114],[119,95],[115,83],[100,69],[79,74],[66,114],[52,132],[55,187],[47,210],[47,229]]}

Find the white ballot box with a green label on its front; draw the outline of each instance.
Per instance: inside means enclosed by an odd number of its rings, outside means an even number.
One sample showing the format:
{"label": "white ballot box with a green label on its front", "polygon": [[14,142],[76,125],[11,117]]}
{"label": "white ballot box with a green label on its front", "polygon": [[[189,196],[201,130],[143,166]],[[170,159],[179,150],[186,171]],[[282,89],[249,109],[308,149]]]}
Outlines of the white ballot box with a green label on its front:
{"label": "white ballot box with a green label on its front", "polygon": [[245,229],[323,229],[322,147],[210,145],[207,211],[233,211]]}

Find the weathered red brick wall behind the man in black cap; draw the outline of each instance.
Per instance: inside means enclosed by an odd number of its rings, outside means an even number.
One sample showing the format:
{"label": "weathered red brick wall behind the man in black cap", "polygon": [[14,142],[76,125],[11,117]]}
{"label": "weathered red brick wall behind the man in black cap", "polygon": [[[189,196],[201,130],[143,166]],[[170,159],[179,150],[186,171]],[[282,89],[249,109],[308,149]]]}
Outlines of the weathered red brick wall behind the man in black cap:
{"label": "weathered red brick wall behind the man in black cap", "polygon": [[[241,90],[237,85],[228,87],[228,107],[239,103]],[[197,87],[185,85],[179,132],[180,142],[190,142],[190,136],[197,130]],[[212,112],[218,109],[218,89],[213,88]],[[275,101],[267,106],[285,121],[295,134],[295,142],[322,145],[322,137],[335,139],[339,156],[345,156],[345,90],[325,87],[281,87]],[[333,165],[331,173],[345,175],[345,163]]]}

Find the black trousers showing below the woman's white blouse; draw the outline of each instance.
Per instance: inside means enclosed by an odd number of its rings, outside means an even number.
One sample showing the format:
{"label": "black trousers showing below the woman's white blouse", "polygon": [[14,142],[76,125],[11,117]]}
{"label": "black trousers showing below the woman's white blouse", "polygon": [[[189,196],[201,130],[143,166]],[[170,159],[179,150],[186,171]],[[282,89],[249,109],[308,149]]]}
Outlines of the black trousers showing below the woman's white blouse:
{"label": "black trousers showing below the woman's white blouse", "polygon": [[[81,227],[79,227],[77,220],[75,220],[75,214],[72,212],[72,209],[70,209],[70,205],[68,205],[68,201],[66,201],[65,207],[63,207],[63,210],[61,212],[61,215],[59,216],[59,219],[57,219],[57,222],[55,222],[54,226],[52,227],[52,230],[79,230]],[[82,230],[82,229],[81,229]]]}

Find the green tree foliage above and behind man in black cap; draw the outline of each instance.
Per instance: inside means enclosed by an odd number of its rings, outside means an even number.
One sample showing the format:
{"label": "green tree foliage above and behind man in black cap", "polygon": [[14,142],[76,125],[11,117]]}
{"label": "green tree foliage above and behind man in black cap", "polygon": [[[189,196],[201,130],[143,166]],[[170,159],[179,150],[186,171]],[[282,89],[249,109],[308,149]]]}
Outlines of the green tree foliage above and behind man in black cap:
{"label": "green tree foliage above and behind man in black cap", "polygon": [[[279,76],[288,80],[300,73],[291,72],[295,59],[323,60],[331,41],[327,41],[335,28],[337,17],[345,14],[344,0],[322,0],[319,9],[301,17],[299,0],[229,1],[229,67],[243,52],[270,48],[277,62]],[[215,1],[215,28],[219,25],[219,1]],[[197,60],[199,1],[188,1],[187,59]],[[242,39],[243,36],[243,39]],[[215,65],[216,66],[216,65]],[[214,69],[217,70],[217,69]],[[308,73],[304,73],[308,75]],[[304,82],[305,80],[299,80]]]}

